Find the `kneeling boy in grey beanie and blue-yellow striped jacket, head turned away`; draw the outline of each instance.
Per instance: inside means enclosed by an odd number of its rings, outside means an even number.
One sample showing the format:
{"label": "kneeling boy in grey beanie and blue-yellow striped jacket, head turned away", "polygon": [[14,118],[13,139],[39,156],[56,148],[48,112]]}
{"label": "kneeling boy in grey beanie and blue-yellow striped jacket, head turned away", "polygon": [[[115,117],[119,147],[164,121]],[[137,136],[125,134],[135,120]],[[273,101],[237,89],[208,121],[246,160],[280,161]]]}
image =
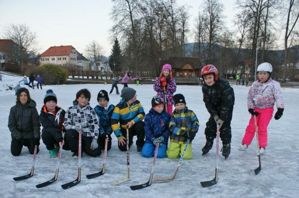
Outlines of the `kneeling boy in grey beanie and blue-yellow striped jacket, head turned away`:
{"label": "kneeling boy in grey beanie and blue-yellow striped jacket, head turned away", "polygon": [[[136,100],[136,91],[130,87],[124,87],[120,95],[123,99],[115,106],[111,116],[111,127],[118,139],[118,149],[126,151],[127,130],[129,128],[129,148],[133,144],[133,136],[137,135],[137,153],[141,153],[144,144],[144,110],[141,103]],[[118,122],[120,125],[118,125]]]}

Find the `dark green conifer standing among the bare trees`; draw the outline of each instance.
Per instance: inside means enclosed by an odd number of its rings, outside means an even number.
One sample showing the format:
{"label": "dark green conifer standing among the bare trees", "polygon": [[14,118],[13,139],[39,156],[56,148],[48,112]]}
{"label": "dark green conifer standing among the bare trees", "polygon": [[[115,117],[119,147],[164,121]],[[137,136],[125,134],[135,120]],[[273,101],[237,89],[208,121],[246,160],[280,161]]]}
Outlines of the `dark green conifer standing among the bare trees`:
{"label": "dark green conifer standing among the bare trees", "polygon": [[109,66],[114,73],[121,71],[121,62],[122,62],[121,53],[122,52],[118,40],[116,38],[111,50],[111,54],[109,56]]}

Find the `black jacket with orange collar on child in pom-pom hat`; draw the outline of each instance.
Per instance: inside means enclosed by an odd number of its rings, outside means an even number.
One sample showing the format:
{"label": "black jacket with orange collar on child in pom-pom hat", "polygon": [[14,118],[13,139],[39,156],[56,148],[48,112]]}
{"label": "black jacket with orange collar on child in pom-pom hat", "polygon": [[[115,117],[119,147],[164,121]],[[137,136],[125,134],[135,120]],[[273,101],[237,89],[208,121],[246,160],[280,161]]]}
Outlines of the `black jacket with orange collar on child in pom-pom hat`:
{"label": "black jacket with orange collar on child in pom-pom hat", "polygon": [[47,111],[46,105],[41,107],[40,120],[43,127],[42,133],[48,131],[56,142],[61,142],[65,111],[60,106],[56,106],[55,112],[56,114],[54,115],[52,112]]}

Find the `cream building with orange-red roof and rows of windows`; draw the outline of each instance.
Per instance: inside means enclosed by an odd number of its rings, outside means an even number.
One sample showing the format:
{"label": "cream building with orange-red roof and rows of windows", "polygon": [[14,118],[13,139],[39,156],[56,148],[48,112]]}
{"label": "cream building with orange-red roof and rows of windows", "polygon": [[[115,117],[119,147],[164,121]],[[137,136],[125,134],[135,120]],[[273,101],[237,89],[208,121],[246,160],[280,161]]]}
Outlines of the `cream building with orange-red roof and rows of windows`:
{"label": "cream building with orange-red roof and rows of windows", "polygon": [[41,54],[41,64],[77,67],[77,51],[71,45],[53,46]]}

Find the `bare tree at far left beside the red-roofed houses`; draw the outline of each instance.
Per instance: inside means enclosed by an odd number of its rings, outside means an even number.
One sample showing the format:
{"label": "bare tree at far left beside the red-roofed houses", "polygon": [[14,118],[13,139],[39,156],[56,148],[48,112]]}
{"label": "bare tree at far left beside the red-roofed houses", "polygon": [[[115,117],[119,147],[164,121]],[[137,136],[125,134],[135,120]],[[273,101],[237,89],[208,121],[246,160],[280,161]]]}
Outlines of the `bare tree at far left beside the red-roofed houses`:
{"label": "bare tree at far left beside the red-roofed houses", "polygon": [[28,58],[28,54],[37,54],[37,50],[39,50],[36,32],[32,32],[26,24],[7,24],[3,28],[4,37],[17,44],[15,56],[20,61],[22,74],[24,74],[24,61]]}

